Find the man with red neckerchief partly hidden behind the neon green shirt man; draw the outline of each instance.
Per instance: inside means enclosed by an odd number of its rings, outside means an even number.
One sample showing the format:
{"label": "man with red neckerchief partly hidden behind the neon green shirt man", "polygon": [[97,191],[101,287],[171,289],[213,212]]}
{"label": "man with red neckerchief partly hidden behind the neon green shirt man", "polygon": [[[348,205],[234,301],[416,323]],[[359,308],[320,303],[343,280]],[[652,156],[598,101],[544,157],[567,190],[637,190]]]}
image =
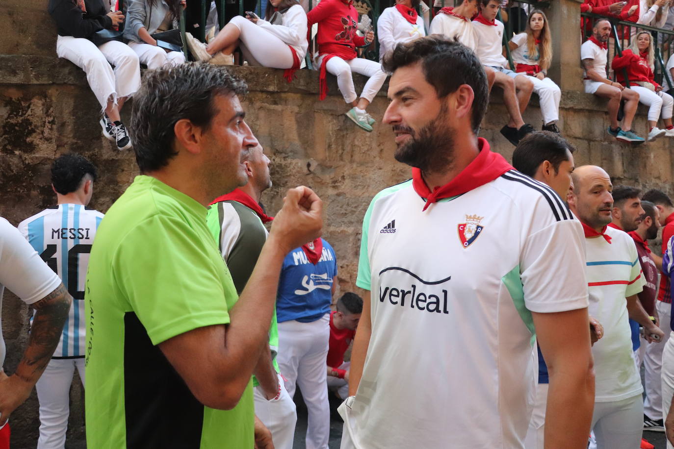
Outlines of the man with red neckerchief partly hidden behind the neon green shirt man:
{"label": "man with red neckerchief partly hidden behind the neon green shirt man", "polygon": [[[267,240],[267,228],[274,217],[264,213],[259,204],[262,192],[272,186],[269,158],[262,145],[253,147],[246,167],[248,182],[231,193],[216,198],[208,207],[206,222],[218,242],[220,254],[232,275],[237,294],[241,295],[250,279],[262,246]],[[255,416],[269,429],[276,449],[292,449],[297,412],[293,398],[288,395],[279,374],[278,325],[276,310],[269,329],[269,349],[262,351],[253,371],[253,401]]]}

